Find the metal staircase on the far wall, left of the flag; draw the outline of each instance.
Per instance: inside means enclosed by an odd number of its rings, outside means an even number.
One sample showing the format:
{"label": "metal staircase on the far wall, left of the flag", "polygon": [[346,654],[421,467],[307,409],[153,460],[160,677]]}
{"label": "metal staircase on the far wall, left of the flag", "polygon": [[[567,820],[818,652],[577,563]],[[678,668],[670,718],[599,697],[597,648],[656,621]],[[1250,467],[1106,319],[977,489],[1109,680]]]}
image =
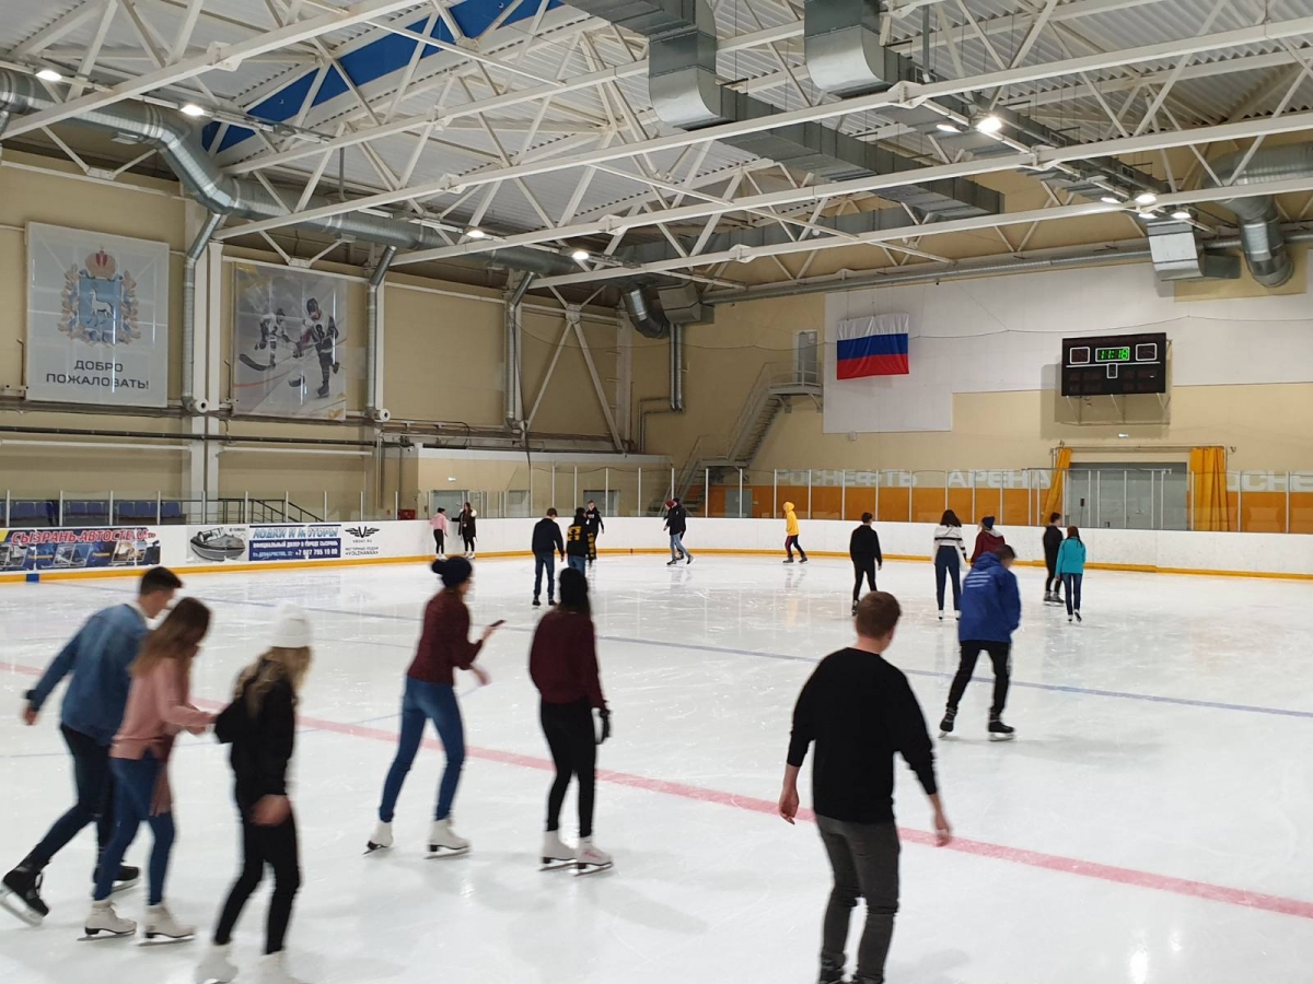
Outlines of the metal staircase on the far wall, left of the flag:
{"label": "metal staircase on the far wall, left of the flag", "polygon": [[[729,437],[706,434],[693,442],[675,485],[684,508],[691,513],[701,512],[708,475],[716,482],[723,471],[750,467],[775,419],[788,409],[796,396],[810,398],[819,407],[822,394],[819,373],[800,370],[785,362],[762,366]],[[717,449],[723,451],[717,453]]]}

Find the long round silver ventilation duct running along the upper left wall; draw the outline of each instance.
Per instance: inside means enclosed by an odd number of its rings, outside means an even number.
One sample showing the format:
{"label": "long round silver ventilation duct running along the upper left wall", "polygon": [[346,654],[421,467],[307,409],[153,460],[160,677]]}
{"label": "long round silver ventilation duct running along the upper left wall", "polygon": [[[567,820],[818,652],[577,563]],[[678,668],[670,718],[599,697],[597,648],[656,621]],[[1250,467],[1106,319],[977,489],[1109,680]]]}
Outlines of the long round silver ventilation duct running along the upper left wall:
{"label": "long round silver ventilation duct running along the upper left wall", "polygon": [[[42,83],[28,75],[0,70],[0,122],[9,113],[37,113],[56,105],[59,104],[50,97]],[[205,152],[196,130],[171,109],[119,100],[87,109],[67,122],[112,133],[122,143],[144,143],[155,147],[183,186],[211,213],[256,220],[276,219],[288,214],[288,206],[264,185],[222,173]],[[0,135],[3,133],[0,127]],[[328,199],[311,198],[309,205],[310,207],[328,205]],[[336,239],[379,243],[398,249],[433,249],[450,245],[437,230],[365,213],[345,213],[299,222],[291,228],[322,232]],[[579,272],[578,264],[569,257],[541,249],[512,247],[496,251],[496,257],[507,266],[540,274]]]}

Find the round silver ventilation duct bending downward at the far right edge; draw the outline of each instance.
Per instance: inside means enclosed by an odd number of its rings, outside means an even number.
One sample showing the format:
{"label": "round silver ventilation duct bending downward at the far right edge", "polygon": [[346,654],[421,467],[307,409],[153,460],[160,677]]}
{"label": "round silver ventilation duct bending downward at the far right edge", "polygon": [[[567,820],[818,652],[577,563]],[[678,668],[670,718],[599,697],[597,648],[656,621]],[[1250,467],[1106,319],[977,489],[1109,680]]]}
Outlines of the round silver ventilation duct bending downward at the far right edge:
{"label": "round silver ventilation duct bending downward at the far right edge", "polygon": [[[1245,171],[1236,177],[1241,161],[1249,157]],[[1285,147],[1263,147],[1249,152],[1229,154],[1213,161],[1217,186],[1242,188],[1249,184],[1313,177],[1313,143]],[[1204,178],[1209,185],[1209,176]],[[1295,262],[1281,235],[1281,216],[1270,194],[1226,198],[1217,202],[1236,213],[1239,223],[1241,249],[1250,276],[1264,287],[1280,287],[1295,273]]]}

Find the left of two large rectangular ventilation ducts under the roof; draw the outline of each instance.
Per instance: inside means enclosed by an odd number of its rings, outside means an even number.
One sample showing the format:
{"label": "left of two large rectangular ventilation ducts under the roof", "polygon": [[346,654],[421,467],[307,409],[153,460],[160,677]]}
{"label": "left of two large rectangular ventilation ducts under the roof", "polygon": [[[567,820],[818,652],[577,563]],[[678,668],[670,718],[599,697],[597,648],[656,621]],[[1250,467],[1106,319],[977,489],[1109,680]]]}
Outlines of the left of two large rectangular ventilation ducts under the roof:
{"label": "left of two large rectangular ventilation ducts under the roof", "polygon": [[[653,106],[670,126],[700,130],[779,113],[768,102],[720,84],[716,20],[706,0],[571,0],[570,5],[649,39]],[[793,171],[813,173],[818,182],[919,169],[909,157],[821,123],[790,123],[722,142]],[[1002,195],[964,180],[909,184],[882,189],[880,195],[927,219],[962,219],[1003,210]]]}

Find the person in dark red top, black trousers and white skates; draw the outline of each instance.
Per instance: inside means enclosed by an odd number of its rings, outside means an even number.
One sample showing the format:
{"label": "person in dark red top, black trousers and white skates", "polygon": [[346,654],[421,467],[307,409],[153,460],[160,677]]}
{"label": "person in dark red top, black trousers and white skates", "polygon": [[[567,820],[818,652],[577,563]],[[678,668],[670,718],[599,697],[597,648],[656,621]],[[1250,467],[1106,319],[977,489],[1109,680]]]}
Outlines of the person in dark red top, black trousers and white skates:
{"label": "person in dark red top, black trousers and white skates", "polygon": [[[538,622],[529,651],[529,676],[542,694],[542,733],[551,749],[557,778],[548,795],[548,832],[542,863],[574,863],[582,870],[611,867],[611,855],[592,844],[592,800],[597,745],[611,737],[611,711],[597,677],[597,644],[588,605],[588,577],[574,568],[561,572],[561,607]],[[601,739],[592,708],[601,712]],[[561,842],[561,804],[571,777],[579,778],[579,848]]]}

